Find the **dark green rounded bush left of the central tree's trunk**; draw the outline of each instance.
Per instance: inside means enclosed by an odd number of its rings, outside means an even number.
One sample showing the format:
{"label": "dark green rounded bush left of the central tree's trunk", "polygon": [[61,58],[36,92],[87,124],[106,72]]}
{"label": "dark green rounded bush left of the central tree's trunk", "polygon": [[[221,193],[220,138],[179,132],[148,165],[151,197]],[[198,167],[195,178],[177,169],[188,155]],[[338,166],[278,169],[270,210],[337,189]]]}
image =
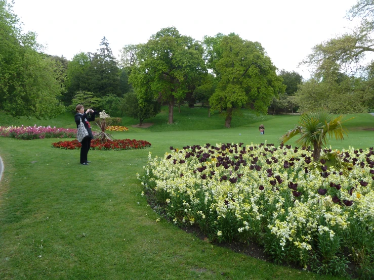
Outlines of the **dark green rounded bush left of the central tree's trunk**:
{"label": "dark green rounded bush left of the central tree's trunk", "polygon": [[145,119],[155,117],[161,112],[161,106],[152,99],[143,100],[142,106],[140,106],[136,93],[129,92],[123,96],[122,111],[129,117],[138,119],[139,124],[142,125]]}

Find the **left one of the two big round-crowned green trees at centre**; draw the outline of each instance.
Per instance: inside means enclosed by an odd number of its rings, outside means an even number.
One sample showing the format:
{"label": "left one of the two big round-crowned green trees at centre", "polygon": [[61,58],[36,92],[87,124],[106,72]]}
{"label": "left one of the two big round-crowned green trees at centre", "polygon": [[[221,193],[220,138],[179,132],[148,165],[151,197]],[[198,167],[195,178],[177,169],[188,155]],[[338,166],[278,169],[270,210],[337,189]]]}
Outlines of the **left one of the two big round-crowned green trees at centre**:
{"label": "left one of the two big round-crowned green trees at centre", "polygon": [[162,28],[139,45],[138,65],[132,68],[129,81],[140,106],[150,97],[168,102],[168,123],[173,123],[175,102],[184,100],[186,93],[193,91],[191,85],[206,71],[202,54],[202,45],[175,27]]}

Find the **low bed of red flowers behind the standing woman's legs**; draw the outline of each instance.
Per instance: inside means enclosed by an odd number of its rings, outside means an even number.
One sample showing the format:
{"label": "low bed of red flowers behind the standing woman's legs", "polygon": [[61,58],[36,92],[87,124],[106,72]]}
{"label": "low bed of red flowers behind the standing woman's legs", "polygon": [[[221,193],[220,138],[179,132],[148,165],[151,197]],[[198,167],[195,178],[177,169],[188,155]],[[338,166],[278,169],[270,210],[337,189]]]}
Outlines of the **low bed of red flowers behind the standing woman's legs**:
{"label": "low bed of red flowers behind the standing woman's legs", "polygon": [[[60,141],[52,143],[53,148],[77,150],[82,145],[75,139],[73,141]],[[151,147],[151,144],[144,140],[120,139],[101,143],[99,140],[91,141],[92,150],[134,150]]]}

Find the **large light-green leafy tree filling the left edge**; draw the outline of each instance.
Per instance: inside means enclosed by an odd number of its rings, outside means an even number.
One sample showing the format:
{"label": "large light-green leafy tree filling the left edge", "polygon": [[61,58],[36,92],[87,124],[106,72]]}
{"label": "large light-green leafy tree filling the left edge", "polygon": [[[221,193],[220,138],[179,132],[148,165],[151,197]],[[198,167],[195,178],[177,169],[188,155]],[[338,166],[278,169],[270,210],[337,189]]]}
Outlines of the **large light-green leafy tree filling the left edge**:
{"label": "large light-green leafy tree filling the left edge", "polygon": [[12,116],[48,118],[63,110],[63,75],[35,37],[22,33],[12,6],[0,0],[0,109]]}

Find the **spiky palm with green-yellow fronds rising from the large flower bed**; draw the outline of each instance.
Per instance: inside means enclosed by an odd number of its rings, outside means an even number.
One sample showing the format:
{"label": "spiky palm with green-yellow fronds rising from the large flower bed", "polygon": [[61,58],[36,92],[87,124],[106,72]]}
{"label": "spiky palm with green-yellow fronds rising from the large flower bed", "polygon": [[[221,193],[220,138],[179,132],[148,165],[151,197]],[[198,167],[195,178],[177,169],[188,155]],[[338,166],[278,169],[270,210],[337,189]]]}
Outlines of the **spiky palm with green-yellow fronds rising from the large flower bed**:
{"label": "spiky palm with green-yellow fronds rising from the large flower bed", "polygon": [[313,147],[313,159],[318,161],[321,155],[322,147],[328,142],[329,138],[335,136],[336,139],[343,141],[344,134],[348,131],[342,127],[343,115],[334,118],[333,115],[324,112],[309,112],[301,115],[299,125],[280,137],[282,143],[287,142],[290,138],[300,134],[300,138],[295,142],[303,147]]}

